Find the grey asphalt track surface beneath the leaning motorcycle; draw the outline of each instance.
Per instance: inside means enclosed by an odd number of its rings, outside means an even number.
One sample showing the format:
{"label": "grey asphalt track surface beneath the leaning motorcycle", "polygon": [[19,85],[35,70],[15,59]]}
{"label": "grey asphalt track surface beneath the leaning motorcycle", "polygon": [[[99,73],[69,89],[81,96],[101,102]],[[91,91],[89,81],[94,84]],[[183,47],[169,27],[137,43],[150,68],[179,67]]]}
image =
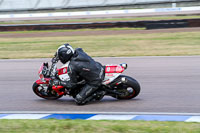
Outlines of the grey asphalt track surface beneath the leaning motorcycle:
{"label": "grey asphalt track surface beneath the leaning motorcycle", "polygon": [[141,93],[132,100],[104,97],[77,106],[71,97],[48,101],[32,92],[43,61],[0,60],[0,111],[200,113],[200,56],[95,58],[102,64],[128,63],[124,72],[137,79]]}

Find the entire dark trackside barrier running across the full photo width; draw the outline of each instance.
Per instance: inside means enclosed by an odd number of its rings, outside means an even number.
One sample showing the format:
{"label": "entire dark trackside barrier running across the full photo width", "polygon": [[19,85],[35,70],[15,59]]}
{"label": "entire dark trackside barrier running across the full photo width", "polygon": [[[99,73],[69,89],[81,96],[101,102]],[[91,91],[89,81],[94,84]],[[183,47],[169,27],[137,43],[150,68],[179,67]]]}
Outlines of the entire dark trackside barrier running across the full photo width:
{"label": "entire dark trackside barrier running across the full photo width", "polygon": [[131,28],[145,27],[146,29],[200,27],[200,19],[0,25],[0,31],[113,28],[113,27],[131,27]]}

